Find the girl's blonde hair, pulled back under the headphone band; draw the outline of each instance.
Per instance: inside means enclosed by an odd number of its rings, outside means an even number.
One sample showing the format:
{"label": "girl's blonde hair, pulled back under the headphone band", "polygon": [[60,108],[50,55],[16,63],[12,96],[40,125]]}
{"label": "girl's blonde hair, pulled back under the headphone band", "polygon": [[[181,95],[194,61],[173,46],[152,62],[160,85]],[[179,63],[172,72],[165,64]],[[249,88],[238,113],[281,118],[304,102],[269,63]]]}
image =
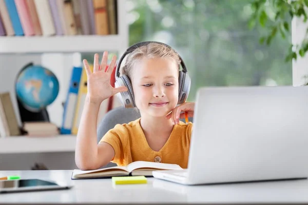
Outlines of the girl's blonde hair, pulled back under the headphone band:
{"label": "girl's blonde hair, pulled back under the headphone band", "polygon": [[122,74],[127,75],[130,79],[133,75],[133,67],[136,63],[144,58],[169,58],[175,61],[180,68],[181,60],[178,53],[169,46],[158,43],[149,43],[133,50],[127,55],[125,65],[122,67]]}

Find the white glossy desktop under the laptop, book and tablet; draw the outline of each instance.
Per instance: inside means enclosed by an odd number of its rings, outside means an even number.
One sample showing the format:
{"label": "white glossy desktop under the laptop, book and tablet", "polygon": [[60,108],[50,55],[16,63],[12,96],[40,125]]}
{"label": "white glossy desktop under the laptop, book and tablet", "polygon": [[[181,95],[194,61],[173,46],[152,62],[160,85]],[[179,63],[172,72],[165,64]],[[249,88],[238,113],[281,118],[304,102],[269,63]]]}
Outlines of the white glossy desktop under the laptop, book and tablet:
{"label": "white glossy desktop under the laptop, book and tablet", "polygon": [[71,170],[0,171],[1,176],[63,180],[70,190],[0,194],[0,203],[308,203],[308,180],[183,186],[155,178],[113,186],[111,179],[71,180]]}

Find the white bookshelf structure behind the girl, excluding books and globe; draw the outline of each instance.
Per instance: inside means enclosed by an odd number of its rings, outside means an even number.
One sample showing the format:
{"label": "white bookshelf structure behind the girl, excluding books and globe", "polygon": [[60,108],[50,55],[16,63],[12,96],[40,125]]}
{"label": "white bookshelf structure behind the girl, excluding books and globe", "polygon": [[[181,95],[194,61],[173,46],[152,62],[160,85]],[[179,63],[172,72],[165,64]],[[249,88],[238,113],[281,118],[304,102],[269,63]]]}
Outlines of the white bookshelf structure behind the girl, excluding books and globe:
{"label": "white bookshelf structure behind the girl, excluding books and globe", "polygon": [[[59,78],[62,87],[57,96],[58,99],[50,105],[52,108],[48,112],[51,121],[55,115],[59,119],[62,118],[62,102],[66,99],[67,77],[70,76],[68,68],[71,69],[75,66],[72,57],[69,55],[87,52],[102,53],[103,51],[118,52],[121,55],[129,45],[125,4],[126,0],[118,0],[118,34],[116,35],[0,36],[0,61],[4,61],[0,65],[0,80],[2,85],[6,85],[6,88],[2,87],[2,91],[7,90],[11,94],[15,92],[12,79],[14,79],[15,73],[21,68],[21,65],[25,65],[29,60],[34,61],[34,64],[41,64],[51,69]],[[82,59],[80,59],[81,61]],[[7,73],[8,66],[11,67],[10,73],[4,75],[4,73]],[[19,118],[14,99],[13,104],[15,104],[15,114]],[[0,137],[0,157],[4,157],[5,154],[72,153],[75,150],[75,142],[76,136],[74,135]]]}

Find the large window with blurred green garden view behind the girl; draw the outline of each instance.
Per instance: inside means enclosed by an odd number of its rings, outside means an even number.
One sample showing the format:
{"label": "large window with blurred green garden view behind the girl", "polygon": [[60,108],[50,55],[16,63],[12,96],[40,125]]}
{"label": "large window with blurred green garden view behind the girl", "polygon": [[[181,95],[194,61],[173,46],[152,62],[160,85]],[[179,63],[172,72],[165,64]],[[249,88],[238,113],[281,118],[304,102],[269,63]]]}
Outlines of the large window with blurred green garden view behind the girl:
{"label": "large window with blurred green garden view behind the girl", "polygon": [[157,40],[177,50],[192,80],[188,100],[202,86],[292,85],[288,42],[259,44],[264,30],[248,28],[249,2],[127,0],[129,44]]}

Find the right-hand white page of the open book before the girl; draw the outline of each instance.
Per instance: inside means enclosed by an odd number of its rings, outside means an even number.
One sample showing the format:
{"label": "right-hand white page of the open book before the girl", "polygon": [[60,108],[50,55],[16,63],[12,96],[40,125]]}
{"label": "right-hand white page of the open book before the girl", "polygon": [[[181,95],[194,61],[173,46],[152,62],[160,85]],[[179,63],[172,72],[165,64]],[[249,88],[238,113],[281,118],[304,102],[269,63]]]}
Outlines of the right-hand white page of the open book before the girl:
{"label": "right-hand white page of the open book before the girl", "polygon": [[144,170],[182,170],[179,165],[172,163],[159,163],[150,161],[134,161],[127,165],[127,170],[132,172],[133,170],[144,169]]}

